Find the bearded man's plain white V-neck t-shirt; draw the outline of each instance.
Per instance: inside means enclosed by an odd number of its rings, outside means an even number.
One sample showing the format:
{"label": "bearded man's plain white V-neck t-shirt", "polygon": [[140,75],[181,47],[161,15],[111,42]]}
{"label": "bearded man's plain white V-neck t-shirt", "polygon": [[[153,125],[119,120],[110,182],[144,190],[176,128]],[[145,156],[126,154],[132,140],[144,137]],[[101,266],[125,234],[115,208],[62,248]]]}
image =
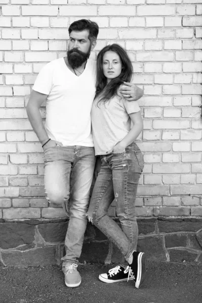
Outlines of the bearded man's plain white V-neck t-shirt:
{"label": "bearded man's plain white V-neck t-shirt", "polygon": [[90,111],[95,95],[96,62],[88,59],[78,77],[60,58],[39,72],[33,90],[47,94],[45,129],[63,145],[93,146]]}

